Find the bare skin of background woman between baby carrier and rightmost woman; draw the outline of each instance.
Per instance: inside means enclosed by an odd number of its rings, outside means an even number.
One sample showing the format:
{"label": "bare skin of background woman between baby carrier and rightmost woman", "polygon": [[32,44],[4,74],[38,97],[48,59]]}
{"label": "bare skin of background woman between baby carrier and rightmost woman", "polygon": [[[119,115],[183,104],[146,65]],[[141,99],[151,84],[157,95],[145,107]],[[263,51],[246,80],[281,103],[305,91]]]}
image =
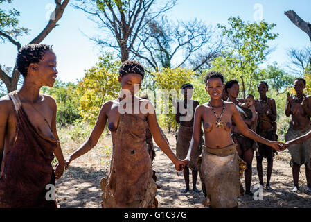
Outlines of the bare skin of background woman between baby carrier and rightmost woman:
{"label": "bare skin of background woman between baby carrier and rightmost woman", "polygon": [[[267,97],[267,86],[265,83],[259,83],[258,92],[260,94],[260,100],[261,101],[267,101],[267,105],[271,109],[264,110],[264,113],[261,113],[260,110],[263,110],[265,108],[265,105],[261,104],[259,100],[256,100],[256,111],[258,112],[259,120],[266,120],[266,121],[259,121],[259,124],[257,126],[258,130],[267,130],[270,128],[274,128],[271,122],[276,121],[276,102],[274,99],[270,99]],[[274,128],[274,133],[276,132],[276,128]],[[260,146],[260,144],[259,144]],[[258,172],[258,178],[260,185],[263,186],[263,156],[256,155],[257,160],[257,172]],[[267,184],[266,189],[271,189],[270,187],[270,178],[272,175],[272,168],[273,168],[273,153],[272,151],[267,153]]]}

